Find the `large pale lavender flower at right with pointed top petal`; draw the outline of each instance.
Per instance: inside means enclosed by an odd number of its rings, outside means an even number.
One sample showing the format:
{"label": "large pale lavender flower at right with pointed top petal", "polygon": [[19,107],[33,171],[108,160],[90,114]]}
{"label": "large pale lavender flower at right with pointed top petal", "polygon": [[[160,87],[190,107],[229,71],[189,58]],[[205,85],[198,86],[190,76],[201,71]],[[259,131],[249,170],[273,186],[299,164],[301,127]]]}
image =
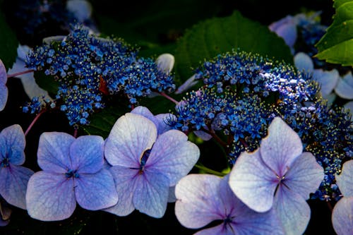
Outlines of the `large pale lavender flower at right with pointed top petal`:
{"label": "large pale lavender flower at right with pointed top petal", "polygon": [[311,211],[306,200],[323,181],[323,167],[285,121],[275,117],[255,152],[242,152],[229,175],[235,195],[251,209],[274,208],[286,234],[302,234]]}

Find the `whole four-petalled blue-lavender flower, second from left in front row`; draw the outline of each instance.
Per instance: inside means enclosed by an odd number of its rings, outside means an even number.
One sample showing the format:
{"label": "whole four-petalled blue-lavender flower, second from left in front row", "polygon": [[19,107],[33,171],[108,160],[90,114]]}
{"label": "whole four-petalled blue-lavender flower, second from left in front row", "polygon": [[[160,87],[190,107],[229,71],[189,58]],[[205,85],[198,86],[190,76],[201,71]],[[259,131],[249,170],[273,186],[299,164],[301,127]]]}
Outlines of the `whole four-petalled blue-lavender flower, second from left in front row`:
{"label": "whole four-petalled blue-lavender flower, second from left in front row", "polygon": [[76,201],[86,210],[101,210],[118,201],[113,176],[103,168],[102,137],[42,133],[37,159],[43,170],[30,178],[26,194],[31,217],[61,220],[73,214]]}

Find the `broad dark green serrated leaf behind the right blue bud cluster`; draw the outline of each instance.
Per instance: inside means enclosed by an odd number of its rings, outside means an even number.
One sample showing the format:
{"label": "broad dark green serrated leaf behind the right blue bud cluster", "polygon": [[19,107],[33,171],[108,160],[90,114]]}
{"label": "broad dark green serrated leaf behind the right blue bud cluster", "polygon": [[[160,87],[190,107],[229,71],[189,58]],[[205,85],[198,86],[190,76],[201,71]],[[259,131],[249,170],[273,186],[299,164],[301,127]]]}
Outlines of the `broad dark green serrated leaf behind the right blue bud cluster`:
{"label": "broad dark green serrated leaf behind the right blue bud cluster", "polygon": [[267,26],[234,11],[232,16],[208,19],[186,30],[177,42],[176,73],[181,80],[186,80],[193,75],[192,69],[198,67],[203,59],[211,59],[217,54],[238,48],[293,63],[290,49],[282,38]]}

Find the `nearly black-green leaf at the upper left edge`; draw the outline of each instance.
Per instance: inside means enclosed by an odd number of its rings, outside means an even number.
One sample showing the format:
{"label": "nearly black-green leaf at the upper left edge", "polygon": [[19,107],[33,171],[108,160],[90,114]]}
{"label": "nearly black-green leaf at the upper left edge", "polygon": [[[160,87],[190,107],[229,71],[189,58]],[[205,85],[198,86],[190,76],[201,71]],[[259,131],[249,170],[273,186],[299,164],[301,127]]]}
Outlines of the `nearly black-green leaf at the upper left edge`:
{"label": "nearly black-green leaf at the upper left edge", "polygon": [[0,59],[3,61],[6,69],[12,68],[17,57],[18,40],[13,30],[6,23],[5,16],[1,11],[0,33]]}

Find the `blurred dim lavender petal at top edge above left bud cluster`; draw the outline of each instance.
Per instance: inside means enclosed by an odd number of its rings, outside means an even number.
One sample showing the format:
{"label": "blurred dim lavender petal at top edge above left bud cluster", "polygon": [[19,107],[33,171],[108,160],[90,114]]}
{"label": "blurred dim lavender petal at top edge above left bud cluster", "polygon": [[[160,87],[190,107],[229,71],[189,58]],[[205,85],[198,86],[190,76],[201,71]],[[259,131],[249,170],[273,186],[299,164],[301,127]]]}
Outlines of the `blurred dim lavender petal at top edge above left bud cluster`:
{"label": "blurred dim lavender petal at top edge above left bud cluster", "polygon": [[89,20],[92,14],[92,5],[85,0],[68,0],[66,1],[66,9],[73,13],[79,22]]}

